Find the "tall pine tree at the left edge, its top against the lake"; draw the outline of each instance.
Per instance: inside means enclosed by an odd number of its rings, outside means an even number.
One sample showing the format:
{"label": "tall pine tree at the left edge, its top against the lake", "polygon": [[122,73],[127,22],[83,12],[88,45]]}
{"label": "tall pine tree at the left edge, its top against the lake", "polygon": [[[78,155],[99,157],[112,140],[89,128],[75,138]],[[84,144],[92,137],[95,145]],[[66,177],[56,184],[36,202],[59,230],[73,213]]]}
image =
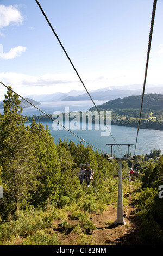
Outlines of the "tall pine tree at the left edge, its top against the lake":
{"label": "tall pine tree at the left edge, its top against the lake", "polygon": [[37,171],[33,154],[35,144],[24,126],[25,119],[20,115],[22,109],[19,111],[19,104],[18,96],[8,90],[0,130],[2,182],[7,185],[1,203],[4,215],[26,207],[37,182],[34,175]]}

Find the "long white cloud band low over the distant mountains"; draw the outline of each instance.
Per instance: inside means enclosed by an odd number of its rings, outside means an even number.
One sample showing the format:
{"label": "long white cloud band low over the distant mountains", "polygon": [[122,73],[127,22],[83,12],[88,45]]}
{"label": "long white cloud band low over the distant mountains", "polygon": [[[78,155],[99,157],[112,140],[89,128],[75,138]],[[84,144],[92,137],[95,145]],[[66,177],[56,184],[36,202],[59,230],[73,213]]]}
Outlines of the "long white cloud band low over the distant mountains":
{"label": "long white cloud band low over the distant mountains", "polygon": [[[161,68],[149,68],[147,84],[162,84]],[[143,84],[144,70],[111,70],[80,74],[89,92],[100,88],[120,88],[132,84]],[[85,90],[76,74],[43,74],[33,76],[22,73],[2,72],[0,81],[22,96],[30,94],[52,94],[56,92],[70,92],[70,90]],[[0,100],[6,88],[0,84]]]}

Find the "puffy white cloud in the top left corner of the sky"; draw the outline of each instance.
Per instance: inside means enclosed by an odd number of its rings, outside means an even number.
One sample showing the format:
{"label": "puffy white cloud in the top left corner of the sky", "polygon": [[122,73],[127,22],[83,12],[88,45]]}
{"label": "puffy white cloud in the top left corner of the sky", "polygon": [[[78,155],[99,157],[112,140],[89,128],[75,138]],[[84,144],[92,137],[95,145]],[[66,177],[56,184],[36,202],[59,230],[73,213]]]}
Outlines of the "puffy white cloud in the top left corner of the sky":
{"label": "puffy white cloud in the top left corner of the sky", "polygon": [[[20,11],[13,5],[0,5],[0,29],[9,25],[21,25],[23,16]],[[0,32],[0,35],[3,35]]]}

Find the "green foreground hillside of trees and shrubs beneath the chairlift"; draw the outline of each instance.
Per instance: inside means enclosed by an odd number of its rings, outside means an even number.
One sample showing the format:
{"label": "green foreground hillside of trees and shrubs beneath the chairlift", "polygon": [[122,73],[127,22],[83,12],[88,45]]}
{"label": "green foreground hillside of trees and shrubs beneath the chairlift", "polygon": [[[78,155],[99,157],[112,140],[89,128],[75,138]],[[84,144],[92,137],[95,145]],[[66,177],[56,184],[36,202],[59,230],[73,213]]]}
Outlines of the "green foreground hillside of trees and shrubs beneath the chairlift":
{"label": "green foreground hillside of trees and shrubs beneath the chairlift", "polygon": [[[53,137],[41,123],[33,119],[25,126],[20,100],[8,90],[4,100],[4,115],[0,115],[0,243],[1,245],[61,245],[55,233],[59,221],[65,238],[75,234],[74,245],[95,245],[91,214],[102,215],[109,205],[117,207],[118,161],[100,155],[82,145],[87,163],[95,167],[90,187],[78,178],[80,164],[85,159],[79,144],[72,141],[54,143]],[[124,207],[126,193],[133,197],[133,205],[140,218],[139,243],[162,243],[162,200],[158,187],[163,184],[163,159],[159,150],[151,152],[153,160],[144,156],[122,162]],[[158,160],[158,157],[159,160]],[[129,185],[129,168],[140,172],[139,179]],[[73,225],[68,220],[76,220]],[[110,225],[109,222],[106,225]],[[111,227],[110,227],[111,228]],[[64,230],[64,231],[63,231]],[[109,228],[108,228],[109,230]],[[152,231],[152,236],[151,236]],[[64,238],[63,238],[64,237]],[[100,242],[99,242],[100,244]]]}

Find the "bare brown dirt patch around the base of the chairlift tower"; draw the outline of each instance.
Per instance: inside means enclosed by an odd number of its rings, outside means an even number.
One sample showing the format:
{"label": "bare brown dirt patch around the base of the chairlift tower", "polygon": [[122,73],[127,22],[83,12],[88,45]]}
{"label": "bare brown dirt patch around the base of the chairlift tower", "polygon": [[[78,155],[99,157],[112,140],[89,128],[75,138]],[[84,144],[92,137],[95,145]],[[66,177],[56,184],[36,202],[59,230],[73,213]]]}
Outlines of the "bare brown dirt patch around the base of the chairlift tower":
{"label": "bare brown dirt patch around the base of the chairlift tower", "polygon": [[139,230],[139,223],[136,222],[136,217],[133,213],[133,207],[127,206],[127,216],[124,217],[126,225],[121,224],[106,224],[109,221],[116,220],[117,209],[108,206],[108,211],[102,215],[94,215],[92,217],[93,223],[97,230],[92,234],[95,237],[97,245],[135,245],[137,241],[137,231]]}

